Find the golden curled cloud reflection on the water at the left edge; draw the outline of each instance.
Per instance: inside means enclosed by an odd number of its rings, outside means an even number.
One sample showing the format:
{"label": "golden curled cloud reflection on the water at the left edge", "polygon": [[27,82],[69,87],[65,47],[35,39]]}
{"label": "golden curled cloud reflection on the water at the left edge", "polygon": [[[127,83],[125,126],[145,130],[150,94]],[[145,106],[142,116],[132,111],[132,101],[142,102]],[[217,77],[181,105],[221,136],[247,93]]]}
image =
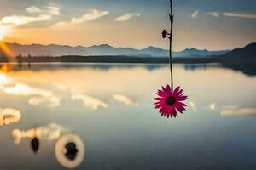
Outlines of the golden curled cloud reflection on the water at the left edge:
{"label": "golden curled cloud reflection on the water at the left edge", "polygon": [[0,108],[0,126],[9,125],[14,122],[19,122],[21,113],[19,110],[6,108]]}

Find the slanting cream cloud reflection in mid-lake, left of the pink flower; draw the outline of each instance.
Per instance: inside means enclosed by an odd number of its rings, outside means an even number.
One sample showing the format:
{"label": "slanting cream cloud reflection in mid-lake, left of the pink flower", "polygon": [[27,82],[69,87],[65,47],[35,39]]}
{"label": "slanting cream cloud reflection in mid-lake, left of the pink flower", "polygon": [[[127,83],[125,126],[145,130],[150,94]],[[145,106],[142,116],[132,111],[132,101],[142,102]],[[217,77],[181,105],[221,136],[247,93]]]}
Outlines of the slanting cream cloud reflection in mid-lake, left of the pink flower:
{"label": "slanting cream cloud reflection in mid-lake, left of the pink flower", "polygon": [[84,94],[73,94],[73,100],[81,100],[84,103],[85,107],[88,107],[92,110],[97,110],[99,108],[108,108],[108,104],[103,102],[100,99],[96,99],[94,97],[84,95]]}

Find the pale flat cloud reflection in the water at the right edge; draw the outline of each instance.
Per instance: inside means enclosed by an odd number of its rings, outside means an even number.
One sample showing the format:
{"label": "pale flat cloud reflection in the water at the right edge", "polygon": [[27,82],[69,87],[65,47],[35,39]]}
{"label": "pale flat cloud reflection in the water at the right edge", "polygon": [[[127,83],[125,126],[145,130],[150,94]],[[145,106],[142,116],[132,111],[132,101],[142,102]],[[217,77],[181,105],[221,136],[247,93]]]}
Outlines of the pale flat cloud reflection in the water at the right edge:
{"label": "pale flat cloud reflection in the water at the right edge", "polygon": [[220,111],[221,116],[256,116],[255,108],[226,109]]}

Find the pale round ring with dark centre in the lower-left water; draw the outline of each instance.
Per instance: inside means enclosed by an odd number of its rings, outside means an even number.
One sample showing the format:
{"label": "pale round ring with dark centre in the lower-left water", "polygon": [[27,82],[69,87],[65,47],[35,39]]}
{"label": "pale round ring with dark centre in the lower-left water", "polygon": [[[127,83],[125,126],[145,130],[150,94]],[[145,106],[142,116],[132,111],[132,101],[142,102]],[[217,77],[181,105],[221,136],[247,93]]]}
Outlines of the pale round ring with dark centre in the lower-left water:
{"label": "pale round ring with dark centre in the lower-left water", "polygon": [[55,157],[63,167],[74,169],[84,161],[84,142],[76,134],[62,136],[55,144]]}

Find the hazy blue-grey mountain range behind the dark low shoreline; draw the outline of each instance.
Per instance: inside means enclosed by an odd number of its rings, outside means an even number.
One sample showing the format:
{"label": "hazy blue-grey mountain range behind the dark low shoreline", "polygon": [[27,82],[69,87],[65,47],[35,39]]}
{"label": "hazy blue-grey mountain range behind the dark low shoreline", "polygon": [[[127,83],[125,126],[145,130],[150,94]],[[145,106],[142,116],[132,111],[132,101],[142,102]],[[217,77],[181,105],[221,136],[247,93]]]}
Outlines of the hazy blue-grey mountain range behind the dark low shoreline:
{"label": "hazy blue-grey mountain range behind the dark low shoreline", "polygon": [[[6,43],[13,57],[21,54],[23,56],[63,56],[63,55],[80,55],[80,56],[136,56],[136,57],[168,57],[169,50],[156,47],[148,47],[143,49],[136,48],[114,48],[108,44],[95,45],[91,47],[77,46],[71,47],[67,45],[21,45],[18,43]],[[180,52],[172,52],[173,57],[177,58],[202,58],[212,55],[220,55],[228,53],[224,51],[208,51],[206,49],[187,48]],[[1,51],[0,51],[1,54]]]}

